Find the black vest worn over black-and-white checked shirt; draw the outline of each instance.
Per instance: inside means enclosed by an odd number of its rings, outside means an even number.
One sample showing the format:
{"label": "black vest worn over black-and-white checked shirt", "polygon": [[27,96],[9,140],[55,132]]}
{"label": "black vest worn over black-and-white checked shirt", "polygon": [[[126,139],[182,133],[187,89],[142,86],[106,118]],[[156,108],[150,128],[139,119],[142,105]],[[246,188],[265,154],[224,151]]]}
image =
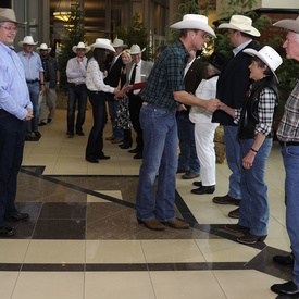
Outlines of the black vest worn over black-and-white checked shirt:
{"label": "black vest worn over black-and-white checked shirt", "polygon": [[[250,95],[246,100],[242,108],[238,139],[254,139],[256,137],[256,125],[259,123],[259,102],[260,94],[264,88],[271,88],[276,95],[275,107],[278,105],[278,90],[272,76],[264,77],[261,80],[254,82],[250,88]],[[275,111],[275,110],[274,110]],[[274,117],[274,115],[273,115]]]}

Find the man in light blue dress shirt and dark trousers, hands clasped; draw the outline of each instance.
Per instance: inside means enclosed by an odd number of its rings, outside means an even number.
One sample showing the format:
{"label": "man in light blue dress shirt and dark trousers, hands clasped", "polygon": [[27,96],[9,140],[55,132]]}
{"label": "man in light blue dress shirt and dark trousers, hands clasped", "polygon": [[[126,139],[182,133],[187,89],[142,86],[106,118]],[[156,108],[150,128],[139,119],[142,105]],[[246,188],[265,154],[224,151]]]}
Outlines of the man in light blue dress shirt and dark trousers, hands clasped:
{"label": "man in light blue dress shirt and dark trousers, hands clasped", "polygon": [[0,8],[0,236],[7,237],[15,234],[7,220],[29,219],[14,205],[26,121],[34,117],[24,67],[11,48],[20,24],[13,10]]}

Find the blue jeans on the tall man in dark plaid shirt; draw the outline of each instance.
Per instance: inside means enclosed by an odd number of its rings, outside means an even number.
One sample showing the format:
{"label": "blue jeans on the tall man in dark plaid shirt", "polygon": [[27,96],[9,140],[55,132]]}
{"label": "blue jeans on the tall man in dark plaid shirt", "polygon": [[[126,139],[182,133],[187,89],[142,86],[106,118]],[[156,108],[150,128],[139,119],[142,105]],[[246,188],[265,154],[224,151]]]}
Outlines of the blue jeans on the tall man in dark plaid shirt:
{"label": "blue jeans on the tall man in dark plaid shirt", "polygon": [[[137,219],[157,217],[161,222],[175,219],[175,174],[177,170],[177,126],[175,111],[142,105],[144,160],[139,172]],[[159,173],[159,174],[158,174]],[[154,180],[158,189],[154,196]]]}

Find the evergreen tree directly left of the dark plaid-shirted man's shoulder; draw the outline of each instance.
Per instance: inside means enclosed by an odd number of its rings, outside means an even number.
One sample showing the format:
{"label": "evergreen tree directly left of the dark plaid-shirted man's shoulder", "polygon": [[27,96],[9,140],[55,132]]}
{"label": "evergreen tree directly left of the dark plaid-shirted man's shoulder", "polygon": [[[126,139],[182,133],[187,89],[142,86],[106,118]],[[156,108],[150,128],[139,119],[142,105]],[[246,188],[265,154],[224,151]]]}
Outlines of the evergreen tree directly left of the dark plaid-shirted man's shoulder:
{"label": "evergreen tree directly left of the dark plaid-shirted man's shoulder", "polygon": [[142,59],[152,60],[152,49],[149,47],[148,30],[144,26],[139,13],[135,13],[132,26],[127,30],[124,27],[117,27],[115,32],[117,38],[123,39],[124,43],[129,47],[137,43],[141,50],[146,48],[146,51],[142,52]]}

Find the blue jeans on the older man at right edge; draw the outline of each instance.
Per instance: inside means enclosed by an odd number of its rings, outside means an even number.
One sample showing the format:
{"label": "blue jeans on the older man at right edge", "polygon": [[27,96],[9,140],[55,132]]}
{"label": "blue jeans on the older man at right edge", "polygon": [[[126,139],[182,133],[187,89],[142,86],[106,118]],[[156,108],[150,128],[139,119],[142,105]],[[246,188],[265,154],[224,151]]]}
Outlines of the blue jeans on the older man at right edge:
{"label": "blue jeans on the older man at right edge", "polygon": [[292,282],[299,286],[299,147],[289,146],[281,148],[286,170],[286,224],[295,257]]}

